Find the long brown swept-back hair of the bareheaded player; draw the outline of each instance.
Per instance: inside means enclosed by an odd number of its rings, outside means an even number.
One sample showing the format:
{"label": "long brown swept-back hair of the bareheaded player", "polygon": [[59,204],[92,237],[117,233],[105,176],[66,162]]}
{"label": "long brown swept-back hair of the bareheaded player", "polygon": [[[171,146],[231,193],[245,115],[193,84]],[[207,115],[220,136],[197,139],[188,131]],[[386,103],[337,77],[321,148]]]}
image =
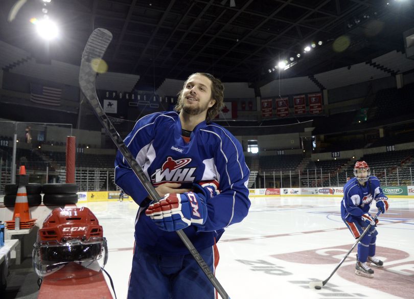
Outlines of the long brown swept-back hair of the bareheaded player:
{"label": "long brown swept-back hair of the bareheaded player", "polygon": [[220,79],[214,77],[213,75],[209,74],[209,73],[194,73],[191,74],[190,76],[188,76],[186,82],[184,82],[184,85],[182,86],[182,89],[179,91],[178,95],[178,101],[177,104],[175,105],[174,109],[177,112],[180,112],[183,108],[183,99],[182,99],[182,93],[184,91],[184,89],[186,88],[188,79],[193,76],[193,75],[201,75],[204,77],[207,77],[210,79],[211,81],[211,98],[214,99],[216,102],[214,103],[214,105],[212,107],[209,108],[209,110],[207,111],[207,116],[205,117],[205,121],[206,122],[211,122],[212,120],[214,120],[216,118],[216,116],[220,113],[221,108],[223,108],[224,106],[224,85],[223,83],[220,81]]}

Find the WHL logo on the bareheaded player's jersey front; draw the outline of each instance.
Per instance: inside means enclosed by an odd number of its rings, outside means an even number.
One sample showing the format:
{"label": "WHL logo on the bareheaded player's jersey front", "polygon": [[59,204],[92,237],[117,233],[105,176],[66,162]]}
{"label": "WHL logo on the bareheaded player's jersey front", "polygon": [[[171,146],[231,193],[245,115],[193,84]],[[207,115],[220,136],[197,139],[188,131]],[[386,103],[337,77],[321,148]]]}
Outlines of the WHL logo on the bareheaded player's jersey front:
{"label": "WHL logo on the bareheaded player's jersey front", "polygon": [[167,157],[161,169],[157,169],[151,175],[151,182],[153,186],[162,185],[166,182],[193,182],[193,176],[196,167],[184,168],[191,162],[191,158],[183,158],[174,160],[172,157]]}

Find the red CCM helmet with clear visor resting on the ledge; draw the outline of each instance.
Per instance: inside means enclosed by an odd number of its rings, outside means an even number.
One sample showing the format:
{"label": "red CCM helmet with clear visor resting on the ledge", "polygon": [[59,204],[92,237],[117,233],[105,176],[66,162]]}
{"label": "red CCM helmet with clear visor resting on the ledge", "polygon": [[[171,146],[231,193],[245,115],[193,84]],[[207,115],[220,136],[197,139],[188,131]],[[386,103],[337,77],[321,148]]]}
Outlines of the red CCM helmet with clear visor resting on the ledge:
{"label": "red CCM helmet with clear visor resting on the ledge", "polygon": [[56,208],[44,220],[33,249],[33,266],[50,279],[89,277],[108,257],[102,226],[88,208]]}

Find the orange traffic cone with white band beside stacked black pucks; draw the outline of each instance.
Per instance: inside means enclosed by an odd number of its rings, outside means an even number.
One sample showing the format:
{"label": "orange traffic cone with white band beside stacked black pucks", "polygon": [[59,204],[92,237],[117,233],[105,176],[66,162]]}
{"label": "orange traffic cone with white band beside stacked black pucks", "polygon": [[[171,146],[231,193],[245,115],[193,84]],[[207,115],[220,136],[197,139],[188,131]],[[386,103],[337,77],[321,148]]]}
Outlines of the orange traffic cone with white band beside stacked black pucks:
{"label": "orange traffic cone with white band beside stacked black pucks", "polygon": [[26,167],[20,166],[13,220],[6,221],[7,229],[16,228],[16,216],[20,217],[20,229],[31,228],[35,225],[36,219],[30,218],[29,203],[27,200],[26,186],[28,183],[29,177],[26,175]]}

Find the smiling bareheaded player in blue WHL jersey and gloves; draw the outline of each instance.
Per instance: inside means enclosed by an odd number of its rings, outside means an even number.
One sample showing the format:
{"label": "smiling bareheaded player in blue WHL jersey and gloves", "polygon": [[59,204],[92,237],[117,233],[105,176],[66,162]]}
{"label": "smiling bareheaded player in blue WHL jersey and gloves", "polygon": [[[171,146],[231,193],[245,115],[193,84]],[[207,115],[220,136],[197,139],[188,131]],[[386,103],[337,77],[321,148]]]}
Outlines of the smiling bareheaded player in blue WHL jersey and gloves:
{"label": "smiling bareheaded player in blue WHL jersey and gloves", "polygon": [[140,205],[129,299],[213,299],[216,291],[175,233],[183,229],[214,273],[216,242],[250,207],[249,170],[237,139],[212,123],[223,106],[224,86],[206,73],[192,74],[175,111],[141,118],[125,139],[156,192],[154,203],[120,152],[119,187]]}

